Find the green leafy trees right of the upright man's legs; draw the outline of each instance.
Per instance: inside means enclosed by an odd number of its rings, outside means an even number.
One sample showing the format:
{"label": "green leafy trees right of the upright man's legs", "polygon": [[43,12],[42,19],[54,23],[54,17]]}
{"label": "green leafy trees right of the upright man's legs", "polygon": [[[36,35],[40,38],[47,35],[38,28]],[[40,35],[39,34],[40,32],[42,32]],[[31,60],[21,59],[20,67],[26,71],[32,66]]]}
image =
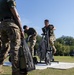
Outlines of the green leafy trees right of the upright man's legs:
{"label": "green leafy trees right of the upright man's legs", "polygon": [[70,36],[62,36],[56,40],[57,55],[70,55],[74,50],[74,38]]}

